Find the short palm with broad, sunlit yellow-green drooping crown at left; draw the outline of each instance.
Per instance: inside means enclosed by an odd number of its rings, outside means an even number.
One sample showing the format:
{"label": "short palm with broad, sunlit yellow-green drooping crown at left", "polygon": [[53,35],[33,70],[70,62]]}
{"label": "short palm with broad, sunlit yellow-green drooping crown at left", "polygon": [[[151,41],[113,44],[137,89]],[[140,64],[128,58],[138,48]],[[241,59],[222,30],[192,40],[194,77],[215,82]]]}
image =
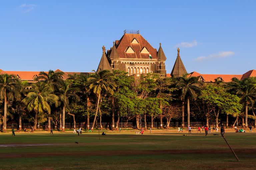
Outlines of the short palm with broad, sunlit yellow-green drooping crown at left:
{"label": "short palm with broad, sunlit yellow-green drooping crown at left", "polygon": [[22,102],[27,106],[28,111],[34,111],[36,113],[34,121],[34,128],[36,129],[37,114],[51,113],[50,105],[55,104],[57,107],[58,96],[52,94],[52,88],[45,82],[37,82],[32,86],[33,92],[29,92]]}

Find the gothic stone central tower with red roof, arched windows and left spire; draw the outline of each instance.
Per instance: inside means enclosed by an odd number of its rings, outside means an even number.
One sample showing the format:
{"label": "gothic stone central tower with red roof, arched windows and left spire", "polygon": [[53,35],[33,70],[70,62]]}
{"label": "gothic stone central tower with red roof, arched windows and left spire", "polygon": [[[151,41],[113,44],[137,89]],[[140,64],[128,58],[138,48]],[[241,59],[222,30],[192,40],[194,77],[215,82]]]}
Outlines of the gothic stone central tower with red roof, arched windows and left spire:
{"label": "gothic stone central tower with red roof, arched windows and left spire", "polygon": [[[150,58],[151,54],[151,58]],[[143,73],[159,73],[166,76],[165,54],[161,47],[152,47],[140,34],[139,31],[124,31],[120,40],[113,42],[112,48],[105,52],[101,57],[99,70],[120,69],[128,72],[128,75],[139,75]]]}

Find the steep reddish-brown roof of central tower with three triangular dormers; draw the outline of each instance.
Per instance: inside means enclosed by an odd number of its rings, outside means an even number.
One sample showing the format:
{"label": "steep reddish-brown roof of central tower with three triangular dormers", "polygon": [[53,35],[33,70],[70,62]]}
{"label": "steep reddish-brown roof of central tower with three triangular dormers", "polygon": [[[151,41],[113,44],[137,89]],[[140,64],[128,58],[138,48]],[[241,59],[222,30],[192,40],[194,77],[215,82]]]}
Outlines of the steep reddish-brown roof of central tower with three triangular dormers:
{"label": "steep reddish-brown roof of central tower with three triangular dormers", "polygon": [[[138,43],[132,43],[134,38]],[[141,53],[143,47],[151,53],[152,59],[157,59],[157,50],[153,48],[140,34],[124,34],[123,37],[116,41],[116,49],[120,58],[149,58],[149,54]],[[126,53],[125,50],[128,46],[135,51],[134,53]]]}

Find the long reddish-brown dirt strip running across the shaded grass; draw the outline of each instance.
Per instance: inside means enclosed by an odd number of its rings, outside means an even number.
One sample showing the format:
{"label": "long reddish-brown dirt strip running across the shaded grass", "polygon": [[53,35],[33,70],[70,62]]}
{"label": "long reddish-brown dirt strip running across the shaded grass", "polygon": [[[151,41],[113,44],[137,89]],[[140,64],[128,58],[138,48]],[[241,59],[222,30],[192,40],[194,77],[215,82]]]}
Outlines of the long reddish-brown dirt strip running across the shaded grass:
{"label": "long reddish-brown dirt strip running across the shaded grass", "polygon": [[[254,154],[256,149],[236,149],[237,154]],[[225,154],[231,153],[229,149],[217,150],[145,150],[145,151],[93,151],[93,152],[40,152],[40,153],[5,153],[1,158],[32,158],[45,156],[113,156],[113,155],[157,155],[157,154]]]}

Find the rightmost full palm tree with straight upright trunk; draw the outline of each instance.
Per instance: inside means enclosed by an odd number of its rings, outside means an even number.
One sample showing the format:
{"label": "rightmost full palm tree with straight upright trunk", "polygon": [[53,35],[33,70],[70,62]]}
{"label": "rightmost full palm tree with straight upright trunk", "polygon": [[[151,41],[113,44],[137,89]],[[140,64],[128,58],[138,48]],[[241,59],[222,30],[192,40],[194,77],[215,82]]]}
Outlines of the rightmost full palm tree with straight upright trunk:
{"label": "rightmost full palm tree with straight upright trunk", "polygon": [[233,78],[227,90],[240,97],[240,103],[245,107],[245,128],[248,128],[248,105],[253,106],[254,100],[256,99],[255,84],[253,84],[250,78],[243,80]]}

